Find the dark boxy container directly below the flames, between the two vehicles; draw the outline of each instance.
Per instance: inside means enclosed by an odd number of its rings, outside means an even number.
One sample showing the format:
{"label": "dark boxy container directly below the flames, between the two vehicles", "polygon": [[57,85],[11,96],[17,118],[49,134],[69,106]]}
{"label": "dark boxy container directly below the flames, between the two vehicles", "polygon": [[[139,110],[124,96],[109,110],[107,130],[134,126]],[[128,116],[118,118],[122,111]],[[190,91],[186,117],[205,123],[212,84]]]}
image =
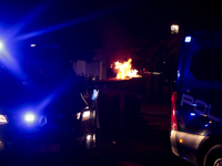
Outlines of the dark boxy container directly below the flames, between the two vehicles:
{"label": "dark boxy container directly below the flames, between the two vehicles", "polygon": [[144,93],[142,77],[98,81],[93,91],[98,92],[95,101],[98,128],[112,132],[137,126]]}

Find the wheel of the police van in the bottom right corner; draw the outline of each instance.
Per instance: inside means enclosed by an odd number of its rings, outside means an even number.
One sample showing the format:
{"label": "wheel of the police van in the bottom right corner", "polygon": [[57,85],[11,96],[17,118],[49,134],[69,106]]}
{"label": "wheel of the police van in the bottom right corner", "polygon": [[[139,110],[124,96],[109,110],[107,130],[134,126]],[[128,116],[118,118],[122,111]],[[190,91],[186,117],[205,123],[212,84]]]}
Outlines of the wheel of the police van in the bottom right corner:
{"label": "wheel of the police van in the bottom right corner", "polygon": [[218,144],[208,151],[203,166],[222,166],[222,144]]}

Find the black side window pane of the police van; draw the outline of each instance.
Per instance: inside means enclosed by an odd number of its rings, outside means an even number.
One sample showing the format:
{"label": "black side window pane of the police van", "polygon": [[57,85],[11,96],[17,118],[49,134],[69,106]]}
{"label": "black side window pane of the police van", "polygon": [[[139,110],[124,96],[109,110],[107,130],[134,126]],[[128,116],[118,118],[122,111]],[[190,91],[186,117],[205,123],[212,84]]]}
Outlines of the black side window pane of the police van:
{"label": "black side window pane of the police van", "polygon": [[222,49],[194,51],[190,72],[200,81],[222,81]]}

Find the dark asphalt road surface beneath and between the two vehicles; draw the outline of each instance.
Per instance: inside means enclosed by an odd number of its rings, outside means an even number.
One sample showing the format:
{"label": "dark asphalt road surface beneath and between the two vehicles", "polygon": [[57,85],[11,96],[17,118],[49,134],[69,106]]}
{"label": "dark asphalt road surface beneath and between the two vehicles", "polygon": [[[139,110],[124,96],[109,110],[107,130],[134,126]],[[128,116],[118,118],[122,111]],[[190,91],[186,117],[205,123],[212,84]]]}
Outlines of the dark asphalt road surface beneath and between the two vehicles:
{"label": "dark asphalt road surface beneath and between the two vehicles", "polygon": [[[38,166],[192,166],[171,153],[170,117],[142,115],[147,126],[122,131],[114,139],[99,131],[97,148],[77,154],[42,154],[11,160],[12,165]],[[7,164],[9,165],[9,164]]]}

